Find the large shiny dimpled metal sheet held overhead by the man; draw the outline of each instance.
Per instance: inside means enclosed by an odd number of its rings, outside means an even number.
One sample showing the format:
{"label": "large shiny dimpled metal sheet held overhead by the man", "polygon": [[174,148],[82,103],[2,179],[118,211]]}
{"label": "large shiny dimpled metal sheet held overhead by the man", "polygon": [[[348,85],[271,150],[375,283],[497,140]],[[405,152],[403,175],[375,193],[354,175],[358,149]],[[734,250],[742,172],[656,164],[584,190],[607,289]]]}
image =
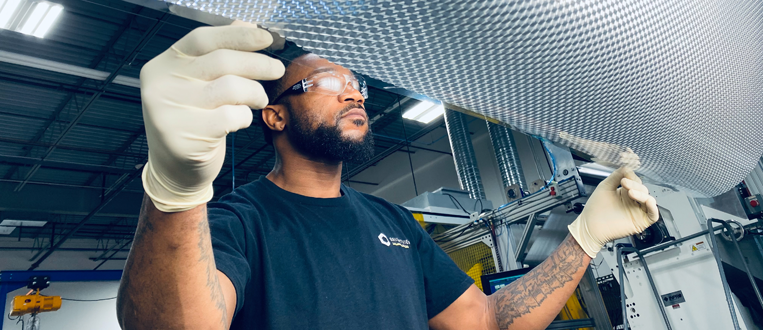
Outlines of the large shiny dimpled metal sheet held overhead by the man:
{"label": "large shiny dimpled metal sheet held overhead by the man", "polygon": [[703,195],[763,153],[759,1],[171,1]]}

